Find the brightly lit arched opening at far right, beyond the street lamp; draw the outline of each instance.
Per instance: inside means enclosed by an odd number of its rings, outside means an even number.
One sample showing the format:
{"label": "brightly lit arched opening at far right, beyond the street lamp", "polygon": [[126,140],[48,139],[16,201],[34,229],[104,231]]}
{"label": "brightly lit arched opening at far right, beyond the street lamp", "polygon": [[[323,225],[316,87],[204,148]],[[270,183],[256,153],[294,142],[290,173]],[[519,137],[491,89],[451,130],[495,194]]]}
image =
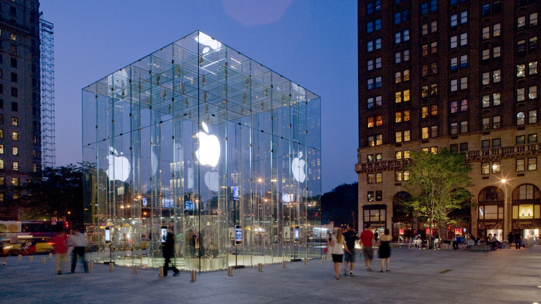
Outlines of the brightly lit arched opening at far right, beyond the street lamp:
{"label": "brightly lit arched opening at far right, beyond the street lamp", "polygon": [[513,234],[519,233],[524,242],[539,237],[541,192],[531,184],[522,184],[513,190],[512,220]]}

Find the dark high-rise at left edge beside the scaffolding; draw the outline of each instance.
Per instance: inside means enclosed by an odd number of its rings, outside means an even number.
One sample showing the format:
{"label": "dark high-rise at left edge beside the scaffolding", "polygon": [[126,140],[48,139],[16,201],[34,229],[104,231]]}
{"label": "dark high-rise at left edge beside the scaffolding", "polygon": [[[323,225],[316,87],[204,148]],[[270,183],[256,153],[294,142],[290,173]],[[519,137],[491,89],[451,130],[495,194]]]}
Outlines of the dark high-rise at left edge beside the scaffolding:
{"label": "dark high-rise at left edge beside the scaffolding", "polygon": [[[40,3],[0,1],[0,208],[41,167]],[[6,214],[4,214],[6,215]]]}

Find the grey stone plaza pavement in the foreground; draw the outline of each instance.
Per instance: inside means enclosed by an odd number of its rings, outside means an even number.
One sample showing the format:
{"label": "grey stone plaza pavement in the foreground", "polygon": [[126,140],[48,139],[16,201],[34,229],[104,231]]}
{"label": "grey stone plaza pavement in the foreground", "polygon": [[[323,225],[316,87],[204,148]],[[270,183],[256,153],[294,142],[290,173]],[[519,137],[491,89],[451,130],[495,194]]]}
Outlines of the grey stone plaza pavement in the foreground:
{"label": "grey stone plaza pavement in the foreground", "polygon": [[[227,271],[158,277],[157,269],[94,264],[84,273],[58,276],[46,256],[8,257],[0,266],[0,303],[541,303],[541,252],[499,249],[417,250],[393,248],[390,272],[333,275],[332,262],[289,262]],[[69,269],[65,263],[65,272]]]}

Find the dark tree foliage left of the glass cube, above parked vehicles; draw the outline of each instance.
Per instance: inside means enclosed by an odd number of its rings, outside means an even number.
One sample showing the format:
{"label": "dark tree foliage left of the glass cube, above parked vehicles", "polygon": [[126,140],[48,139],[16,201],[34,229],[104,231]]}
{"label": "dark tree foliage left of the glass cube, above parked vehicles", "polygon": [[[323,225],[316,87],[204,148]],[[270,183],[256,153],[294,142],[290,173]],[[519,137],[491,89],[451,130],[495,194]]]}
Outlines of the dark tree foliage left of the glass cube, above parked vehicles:
{"label": "dark tree foliage left of the glass cube, above parked vehicles", "polygon": [[22,219],[43,221],[49,217],[66,217],[71,223],[83,223],[83,168],[80,164],[47,167],[41,179],[25,187],[28,196],[17,202]]}

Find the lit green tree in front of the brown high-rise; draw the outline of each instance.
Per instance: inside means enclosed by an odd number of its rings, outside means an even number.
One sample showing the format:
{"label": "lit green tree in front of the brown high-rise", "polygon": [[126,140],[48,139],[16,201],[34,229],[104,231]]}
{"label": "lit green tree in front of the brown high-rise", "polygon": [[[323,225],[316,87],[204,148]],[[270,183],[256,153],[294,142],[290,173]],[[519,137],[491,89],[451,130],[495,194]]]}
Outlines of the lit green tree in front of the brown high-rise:
{"label": "lit green tree in front of the brown high-rise", "polygon": [[445,148],[437,154],[414,152],[411,160],[406,166],[410,178],[404,185],[411,199],[403,203],[426,217],[430,228],[434,223],[440,228],[446,226],[449,214],[463,208],[471,196],[466,188],[470,186],[472,167],[465,162],[464,155]]}

